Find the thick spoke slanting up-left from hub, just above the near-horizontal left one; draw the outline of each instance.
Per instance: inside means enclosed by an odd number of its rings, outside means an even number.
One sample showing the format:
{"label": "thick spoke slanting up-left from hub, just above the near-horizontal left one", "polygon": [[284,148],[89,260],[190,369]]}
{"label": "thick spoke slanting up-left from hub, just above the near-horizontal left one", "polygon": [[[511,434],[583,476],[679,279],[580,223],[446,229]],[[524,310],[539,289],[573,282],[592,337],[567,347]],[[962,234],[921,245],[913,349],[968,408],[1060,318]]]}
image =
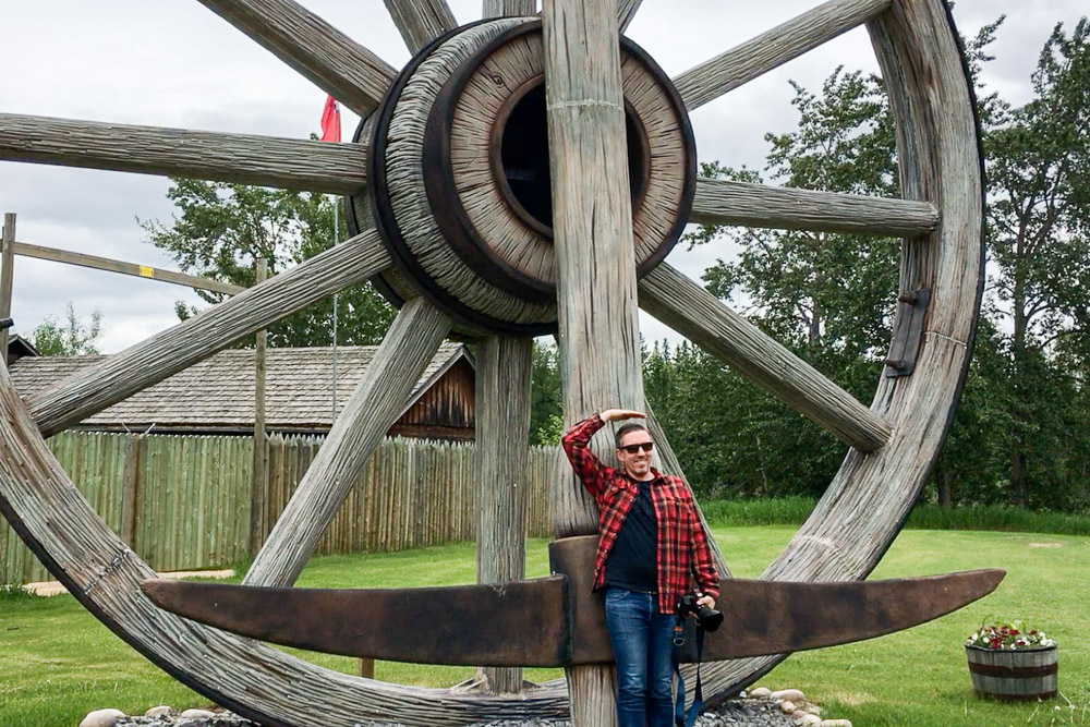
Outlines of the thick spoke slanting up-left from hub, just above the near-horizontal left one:
{"label": "thick spoke slanting up-left from hub, just above the near-horizontal left one", "polygon": [[397,71],[292,0],[201,0],[361,117],[383,100]]}

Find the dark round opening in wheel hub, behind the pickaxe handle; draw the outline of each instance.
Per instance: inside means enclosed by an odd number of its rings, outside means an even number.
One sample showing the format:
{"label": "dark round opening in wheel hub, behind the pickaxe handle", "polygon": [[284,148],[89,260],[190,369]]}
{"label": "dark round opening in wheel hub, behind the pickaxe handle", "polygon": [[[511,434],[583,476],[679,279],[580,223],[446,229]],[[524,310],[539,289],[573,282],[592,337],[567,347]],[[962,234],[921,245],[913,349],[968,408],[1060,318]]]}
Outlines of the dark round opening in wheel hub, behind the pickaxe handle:
{"label": "dark round opening in wheel hub, behind the pickaxe handle", "polygon": [[[528,84],[530,85],[530,84]],[[545,84],[537,81],[521,96],[511,97],[506,119],[500,112],[499,163],[502,171],[500,189],[509,192],[511,206],[526,221],[537,222],[548,234],[553,231],[553,190],[548,165],[548,126],[545,120]],[[628,132],[628,170],[632,187],[632,205],[637,206],[646,187],[647,145],[643,128],[632,109],[625,105],[625,126]],[[506,181],[507,189],[504,190]]]}

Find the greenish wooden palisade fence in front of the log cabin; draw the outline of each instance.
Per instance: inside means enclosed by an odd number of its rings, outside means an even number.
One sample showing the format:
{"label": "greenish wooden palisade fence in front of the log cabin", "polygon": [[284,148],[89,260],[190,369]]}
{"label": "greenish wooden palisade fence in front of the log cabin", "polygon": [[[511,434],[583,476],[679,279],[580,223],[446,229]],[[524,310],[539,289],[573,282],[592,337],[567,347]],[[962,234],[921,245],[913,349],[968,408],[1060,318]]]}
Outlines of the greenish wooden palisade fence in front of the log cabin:
{"label": "greenish wooden palisade fence in front of the log cabin", "polygon": [[[276,522],[322,437],[268,438],[267,490],[251,490],[253,440],[226,436],[63,433],[49,446],[76,487],[158,571],[228,566],[250,554],[252,498]],[[401,550],[475,536],[473,444],[384,439],[315,550]],[[530,451],[526,534],[546,537],[554,449]],[[4,523],[0,583],[52,577]]]}

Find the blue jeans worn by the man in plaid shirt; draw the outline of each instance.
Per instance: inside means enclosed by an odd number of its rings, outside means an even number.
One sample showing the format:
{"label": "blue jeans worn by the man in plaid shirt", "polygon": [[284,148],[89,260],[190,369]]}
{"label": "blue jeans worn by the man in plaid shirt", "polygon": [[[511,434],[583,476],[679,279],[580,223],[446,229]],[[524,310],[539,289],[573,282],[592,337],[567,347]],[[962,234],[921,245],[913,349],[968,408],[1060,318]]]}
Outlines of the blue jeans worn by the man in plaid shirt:
{"label": "blue jeans worn by the man in plaid shirt", "polygon": [[618,727],[674,725],[674,615],[658,596],[606,589],[606,628],[617,661]]}

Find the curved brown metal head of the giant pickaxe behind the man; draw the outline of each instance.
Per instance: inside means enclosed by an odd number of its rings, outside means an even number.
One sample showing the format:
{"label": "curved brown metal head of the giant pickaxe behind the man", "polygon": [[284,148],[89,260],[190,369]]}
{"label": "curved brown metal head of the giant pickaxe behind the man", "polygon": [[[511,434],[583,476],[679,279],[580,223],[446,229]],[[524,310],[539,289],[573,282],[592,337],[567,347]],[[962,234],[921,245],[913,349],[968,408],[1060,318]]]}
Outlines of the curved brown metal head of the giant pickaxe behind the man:
{"label": "curved brown metal head of the giant pickaxe behind the man", "polygon": [[[149,580],[159,607],[240,635],[329,654],[462,666],[613,662],[592,593],[597,538],[549,545],[554,574],[492,585],[395,590],[263,589]],[[871,639],[956,610],[998,585],[1002,570],[836,583],[724,579],[724,628],[704,661],[780,654]],[[693,630],[692,619],[688,629]],[[682,661],[695,661],[686,639]]]}

